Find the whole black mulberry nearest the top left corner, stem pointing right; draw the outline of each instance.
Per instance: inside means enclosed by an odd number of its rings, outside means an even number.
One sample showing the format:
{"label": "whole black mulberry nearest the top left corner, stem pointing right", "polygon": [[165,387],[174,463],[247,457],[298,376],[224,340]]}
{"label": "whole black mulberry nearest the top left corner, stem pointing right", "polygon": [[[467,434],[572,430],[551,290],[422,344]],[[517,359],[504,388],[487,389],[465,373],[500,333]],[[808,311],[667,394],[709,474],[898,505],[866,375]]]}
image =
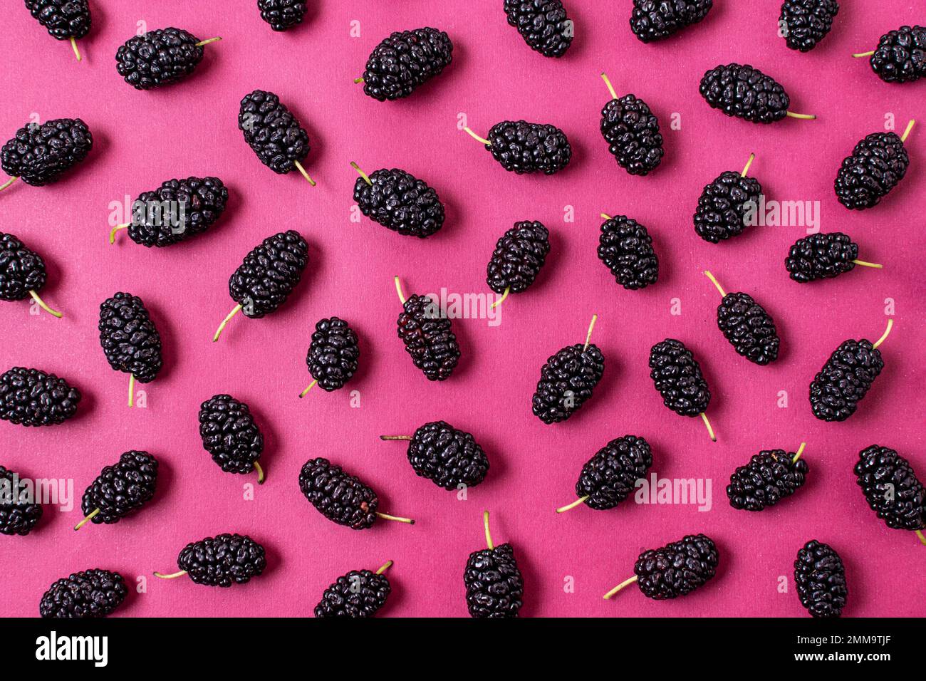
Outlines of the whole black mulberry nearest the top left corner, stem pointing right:
{"label": "whole black mulberry nearest the top left corner, stem pointing right", "polygon": [[151,90],[193,73],[203,60],[203,46],[217,40],[201,41],[175,28],[133,35],[116,51],[116,70],[136,90]]}

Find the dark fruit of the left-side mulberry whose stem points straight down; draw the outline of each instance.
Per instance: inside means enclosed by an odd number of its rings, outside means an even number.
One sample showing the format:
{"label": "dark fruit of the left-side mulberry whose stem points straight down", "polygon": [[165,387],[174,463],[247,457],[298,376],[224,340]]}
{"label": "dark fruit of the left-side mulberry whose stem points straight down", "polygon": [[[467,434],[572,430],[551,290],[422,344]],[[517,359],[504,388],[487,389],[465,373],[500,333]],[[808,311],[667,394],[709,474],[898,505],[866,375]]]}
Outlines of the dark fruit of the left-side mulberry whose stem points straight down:
{"label": "dark fruit of the left-side mulberry whose stem points straight down", "polygon": [[155,380],[164,364],[161,337],[140,297],[118,293],[106,298],[99,330],[100,346],[114,371],[129,373],[139,383]]}

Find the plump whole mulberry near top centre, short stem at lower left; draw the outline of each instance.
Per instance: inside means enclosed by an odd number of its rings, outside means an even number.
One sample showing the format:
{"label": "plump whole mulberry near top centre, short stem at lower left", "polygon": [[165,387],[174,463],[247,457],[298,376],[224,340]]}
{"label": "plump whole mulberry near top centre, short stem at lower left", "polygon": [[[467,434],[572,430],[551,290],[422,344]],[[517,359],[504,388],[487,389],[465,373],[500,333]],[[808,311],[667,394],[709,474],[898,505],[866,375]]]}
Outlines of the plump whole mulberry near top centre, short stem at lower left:
{"label": "plump whole mulberry near top centre, short stem at lower left", "polygon": [[373,48],[357,82],[381,102],[407,97],[449,66],[453,51],[450,36],[437,29],[394,32]]}

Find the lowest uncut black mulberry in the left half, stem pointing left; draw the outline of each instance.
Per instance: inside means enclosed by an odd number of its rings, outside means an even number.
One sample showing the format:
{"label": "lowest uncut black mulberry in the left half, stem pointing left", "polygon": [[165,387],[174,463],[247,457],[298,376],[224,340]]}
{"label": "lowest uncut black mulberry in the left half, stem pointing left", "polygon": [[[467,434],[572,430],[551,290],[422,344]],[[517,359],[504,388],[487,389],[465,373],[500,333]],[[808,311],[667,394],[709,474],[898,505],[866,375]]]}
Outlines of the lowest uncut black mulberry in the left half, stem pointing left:
{"label": "lowest uncut black mulberry in the left half, stem pointing left", "polygon": [[161,579],[189,574],[194,584],[228,587],[246,584],[267,567],[264,548],[250,536],[218,535],[191,542],[177,557],[180,572],[155,573]]}

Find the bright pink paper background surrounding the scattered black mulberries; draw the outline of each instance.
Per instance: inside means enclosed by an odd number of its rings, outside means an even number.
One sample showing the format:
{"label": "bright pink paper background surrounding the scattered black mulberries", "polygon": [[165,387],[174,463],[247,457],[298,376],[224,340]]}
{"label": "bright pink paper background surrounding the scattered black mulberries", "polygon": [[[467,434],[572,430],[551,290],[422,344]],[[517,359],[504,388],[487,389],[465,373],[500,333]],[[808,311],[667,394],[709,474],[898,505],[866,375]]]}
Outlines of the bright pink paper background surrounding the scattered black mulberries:
{"label": "bright pink paper background surrounding the scattered black mulberries", "polygon": [[[230,589],[149,578],[147,592],[131,594],[119,614],[306,616],[338,575],[392,559],[394,593],[382,614],[466,615],[462,573],[469,552],[484,546],[483,509],[493,512],[496,543],[515,546],[523,615],[806,616],[793,585],[786,594],[777,586],[779,575],[790,585],[795,553],[811,538],[831,543],[845,561],[846,615],[926,612],[926,548],[875,517],[852,473],[859,449],[877,443],[907,456],[926,479],[926,127],[910,137],[907,179],[882,206],[849,212],[832,192],[841,160],[861,137],[883,129],[886,114],[895,115],[899,130],[923,115],[926,84],[885,84],[850,57],[871,49],[882,32],[921,22],[919,3],[846,0],[832,34],[802,55],[776,35],[777,0],[719,0],[701,25],[650,45],[629,30],[629,0],[571,0],[577,37],[562,59],[528,49],[501,4],[311,2],[301,27],[277,34],[259,19],[254,0],[94,0],[94,30],[81,41],[80,64],[24,8],[9,8],[0,32],[0,137],[33,112],[41,120],[79,116],[94,132],[94,151],[60,183],[17,183],[0,195],[0,229],[44,255],[50,282],[43,295],[65,312],[58,321],[31,316],[26,303],[0,305],[0,370],[56,372],[84,395],[79,418],[62,426],[0,422],[0,463],[24,476],[72,478],[78,506],[84,487],[126,449],[155,454],[162,473],[151,505],[116,525],[74,533],[77,509],[46,507],[30,536],[0,540],[7,586],[0,614],[36,614],[44,589],[71,572],[105,567],[133,582],[173,571],[189,541],[240,532],[268,549],[262,577]],[[149,29],[172,25],[224,40],[206,48],[186,82],[137,92],[119,78],[113,55],[141,19]],[[349,34],[355,20],[359,38]],[[407,100],[364,96],[352,79],[373,46],[389,32],[422,25],[451,35],[453,64]],[[697,93],[700,76],[732,60],[778,78],[792,107],[819,120],[757,126],[707,107]],[[628,175],[607,153],[598,132],[608,98],[602,70],[619,94],[643,97],[659,116],[666,158],[648,177]],[[238,103],[254,88],[278,93],[303,121],[317,188],[296,173],[275,175],[244,144]],[[457,130],[461,112],[482,133],[503,119],[552,122],[568,133],[572,162],[554,177],[507,173]],[[681,130],[669,129],[673,112]],[[750,152],[757,153],[751,174],[770,198],[820,200],[822,231],[851,234],[860,257],[883,262],[884,270],[795,284],[783,259],[803,227],[754,228],[719,246],[699,239],[692,214],[702,187],[722,170],[740,170]],[[366,218],[351,221],[351,160],[368,171],[400,167],[432,184],[446,204],[444,229],[419,241]],[[162,250],[137,246],[124,233],[117,246],[106,243],[111,201],[193,174],[218,175],[230,187],[229,210],[211,233]],[[574,222],[563,220],[567,206]],[[596,259],[602,211],[648,227],[660,259],[656,285],[625,291]],[[499,326],[454,322],[460,366],[449,381],[428,382],[395,337],[400,306],[392,277],[402,275],[407,293],[487,291],[495,240],[519,220],[551,230],[544,271],[528,292],[506,301]],[[278,313],[260,321],[239,316],[212,344],[232,308],[229,275],[248,250],[283,229],[298,230],[309,244],[302,284]],[[705,268],[773,315],[782,336],[776,363],[753,365],[723,339],[715,322],[719,296],[701,275]],[[127,408],[127,378],[109,369],[98,343],[98,306],[120,290],[142,296],[164,341],[165,370],[144,386],[147,409]],[[817,421],[807,385],[843,340],[882,333],[889,297],[895,331],[882,348],[882,376],[851,420]],[[681,315],[669,314],[673,298],[681,300]],[[541,365],[559,347],[582,341],[593,312],[600,315],[594,342],[607,359],[605,377],[569,422],[544,425],[531,413]],[[357,329],[362,368],[349,389],[313,390],[299,400],[309,380],[310,331],[330,315]],[[717,444],[700,420],[665,409],[653,388],[648,351],[666,336],[681,339],[701,362]],[[350,389],[361,395],[359,409],[350,407]],[[787,409],[776,405],[782,390]],[[255,477],[221,473],[201,446],[198,406],[221,392],[251,405],[268,441],[261,459],[268,481],[253,501],[243,499],[243,486]],[[410,434],[437,419],[475,435],[492,461],[488,479],[466,501],[416,477],[405,446],[377,437]],[[554,513],[574,498],[582,463],[628,433],[649,440],[660,477],[710,478],[712,510],[628,501],[612,511]],[[794,450],[802,440],[811,471],[806,488],[762,513],[730,508],[724,488],[736,466],[761,448]],[[382,511],[418,523],[354,532],[328,522],[296,484],[303,462],[317,456],[369,481]],[[712,536],[721,553],[719,574],[706,587],[670,602],[645,599],[636,588],[601,598],[632,574],[641,549],[697,532]],[[574,592],[564,591],[567,576]]]}

